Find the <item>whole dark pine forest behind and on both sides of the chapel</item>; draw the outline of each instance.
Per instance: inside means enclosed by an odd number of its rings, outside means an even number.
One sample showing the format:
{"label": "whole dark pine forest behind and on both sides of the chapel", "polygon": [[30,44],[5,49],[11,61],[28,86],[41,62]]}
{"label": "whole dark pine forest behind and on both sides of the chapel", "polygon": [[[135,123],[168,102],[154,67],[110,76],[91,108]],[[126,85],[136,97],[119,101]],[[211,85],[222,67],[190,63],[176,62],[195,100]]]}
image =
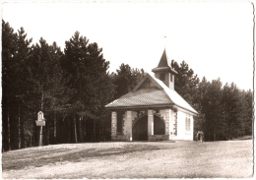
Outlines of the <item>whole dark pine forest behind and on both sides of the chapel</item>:
{"label": "whole dark pine forest behind and on both sides of the chapel", "polygon": [[[38,111],[46,123],[43,145],[110,141],[104,105],[133,90],[146,72],[120,63],[109,73],[109,66],[102,48],[79,31],[62,51],[42,37],[33,44],[24,28],[15,32],[2,21],[2,151],[38,146]],[[203,131],[205,141],[252,136],[253,91],[200,80],[185,61],[171,66],[178,72],[174,89],[199,112],[194,134]]]}

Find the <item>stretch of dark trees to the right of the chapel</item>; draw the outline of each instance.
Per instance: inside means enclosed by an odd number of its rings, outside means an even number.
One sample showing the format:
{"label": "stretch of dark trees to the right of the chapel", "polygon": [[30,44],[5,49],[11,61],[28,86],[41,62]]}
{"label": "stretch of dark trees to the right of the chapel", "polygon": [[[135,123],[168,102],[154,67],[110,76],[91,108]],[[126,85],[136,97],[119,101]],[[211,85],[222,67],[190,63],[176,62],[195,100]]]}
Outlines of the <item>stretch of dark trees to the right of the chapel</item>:
{"label": "stretch of dark trees to the right of the chapel", "polygon": [[234,83],[221,79],[199,80],[185,61],[171,66],[178,72],[175,90],[197,111],[194,119],[194,137],[204,132],[205,141],[231,140],[252,136],[253,92],[240,90]]}

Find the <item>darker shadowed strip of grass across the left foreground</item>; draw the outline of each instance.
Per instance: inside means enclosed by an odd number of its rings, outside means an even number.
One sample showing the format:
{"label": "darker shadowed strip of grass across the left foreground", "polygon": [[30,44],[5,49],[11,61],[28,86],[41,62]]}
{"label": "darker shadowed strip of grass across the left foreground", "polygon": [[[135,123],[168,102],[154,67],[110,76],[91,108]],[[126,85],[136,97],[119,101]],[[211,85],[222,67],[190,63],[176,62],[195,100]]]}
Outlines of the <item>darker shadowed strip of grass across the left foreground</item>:
{"label": "darker shadowed strip of grass across the left foreground", "polygon": [[[65,163],[65,162],[79,162],[82,158],[90,157],[103,157],[109,155],[118,155],[124,153],[130,153],[134,151],[143,150],[162,150],[157,146],[151,145],[126,145],[121,148],[109,148],[109,149],[86,149],[86,150],[42,150],[42,151],[32,151],[29,150],[25,154],[8,154],[3,156],[2,168],[3,170],[11,169],[23,169],[26,167],[40,167],[43,165],[55,164],[55,163]],[[67,151],[66,153],[56,154],[54,152]],[[48,154],[48,156],[45,154]],[[43,157],[40,157],[43,156]]]}

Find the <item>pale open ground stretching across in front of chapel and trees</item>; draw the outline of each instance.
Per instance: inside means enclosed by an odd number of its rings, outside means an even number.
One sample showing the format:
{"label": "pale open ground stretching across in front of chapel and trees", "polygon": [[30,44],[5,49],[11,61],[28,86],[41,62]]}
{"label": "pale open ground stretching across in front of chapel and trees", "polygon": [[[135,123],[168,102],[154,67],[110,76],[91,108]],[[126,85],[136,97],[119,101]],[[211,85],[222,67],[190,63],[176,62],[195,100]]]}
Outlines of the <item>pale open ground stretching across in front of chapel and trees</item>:
{"label": "pale open ground stretching across in front of chapel and trees", "polygon": [[2,177],[250,178],[252,140],[65,144],[2,153]]}

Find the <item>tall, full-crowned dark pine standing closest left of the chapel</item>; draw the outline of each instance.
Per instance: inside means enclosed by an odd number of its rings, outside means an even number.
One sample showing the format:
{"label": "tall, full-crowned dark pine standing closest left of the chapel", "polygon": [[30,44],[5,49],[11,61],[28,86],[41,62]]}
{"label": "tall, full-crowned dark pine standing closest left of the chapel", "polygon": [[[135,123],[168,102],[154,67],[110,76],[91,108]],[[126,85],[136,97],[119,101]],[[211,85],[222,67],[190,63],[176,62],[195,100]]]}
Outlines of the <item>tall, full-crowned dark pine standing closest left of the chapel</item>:
{"label": "tall, full-crowned dark pine standing closest left of the chapel", "polygon": [[106,102],[111,98],[113,88],[104,83],[110,83],[106,73],[109,62],[103,59],[102,49],[96,43],[89,43],[89,39],[78,31],[66,41],[64,53],[61,65],[66,76],[70,76],[67,86],[75,91],[70,101],[74,107],[73,119],[75,123],[78,117],[79,140],[84,142],[86,121],[93,120],[96,129],[96,122],[102,116],[100,100]]}

